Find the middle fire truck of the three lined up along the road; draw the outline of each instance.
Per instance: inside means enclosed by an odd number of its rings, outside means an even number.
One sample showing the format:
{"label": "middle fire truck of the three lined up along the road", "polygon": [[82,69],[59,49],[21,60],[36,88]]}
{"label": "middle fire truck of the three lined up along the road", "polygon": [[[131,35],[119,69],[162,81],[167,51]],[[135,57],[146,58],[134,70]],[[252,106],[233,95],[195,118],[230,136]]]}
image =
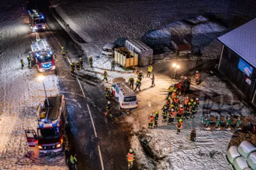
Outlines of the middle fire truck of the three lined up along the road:
{"label": "middle fire truck of the three lined up along the road", "polygon": [[31,41],[31,50],[29,55],[32,64],[36,64],[39,72],[55,69],[54,55],[46,39],[36,38]]}

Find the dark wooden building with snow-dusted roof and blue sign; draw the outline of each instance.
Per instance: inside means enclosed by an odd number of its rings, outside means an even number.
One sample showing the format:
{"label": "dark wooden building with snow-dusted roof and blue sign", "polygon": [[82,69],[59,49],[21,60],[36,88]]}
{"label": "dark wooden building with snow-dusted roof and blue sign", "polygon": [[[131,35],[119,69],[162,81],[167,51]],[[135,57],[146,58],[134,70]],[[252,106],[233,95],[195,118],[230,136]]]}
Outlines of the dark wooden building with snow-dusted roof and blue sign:
{"label": "dark wooden building with snow-dusted roof and blue sign", "polygon": [[219,71],[256,106],[256,18],[218,38]]}

